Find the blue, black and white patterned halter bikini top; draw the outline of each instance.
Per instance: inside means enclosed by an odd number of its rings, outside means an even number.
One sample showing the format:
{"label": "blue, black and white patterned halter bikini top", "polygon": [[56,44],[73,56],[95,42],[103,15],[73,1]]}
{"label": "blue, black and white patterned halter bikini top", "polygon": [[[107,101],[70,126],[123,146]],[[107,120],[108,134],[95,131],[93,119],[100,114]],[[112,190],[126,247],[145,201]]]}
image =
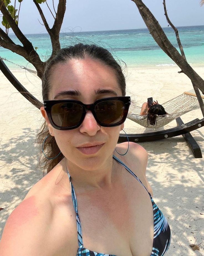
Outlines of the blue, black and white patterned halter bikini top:
{"label": "blue, black and white patterned halter bikini top", "polygon": [[[129,171],[137,179],[137,181],[139,181],[139,183],[142,184],[142,182],[137,178],[137,176],[123,162],[121,162],[115,156],[113,156],[113,159],[115,159],[118,163],[120,163],[122,166],[124,166],[124,168],[126,168],[127,171]],[[116,255],[111,255],[111,254],[92,252],[83,247],[81,223],[80,223],[78,210],[77,210],[77,198],[75,195],[75,191],[74,191],[71,177],[68,173],[68,170],[67,170],[67,174],[68,174],[70,185],[71,185],[72,200],[73,200],[73,205],[74,205],[74,209],[76,211],[76,218],[77,218],[77,232],[78,232],[78,244],[79,244],[77,256],[116,256]],[[145,186],[143,184],[142,184],[142,186],[145,188]],[[166,254],[167,250],[169,249],[169,245],[171,242],[170,227],[169,227],[169,224],[168,224],[166,218],[164,217],[163,213],[159,210],[159,208],[154,203],[151,194],[149,192],[148,192],[148,194],[152,201],[153,214],[154,214],[154,240],[153,240],[151,256],[164,256]]]}

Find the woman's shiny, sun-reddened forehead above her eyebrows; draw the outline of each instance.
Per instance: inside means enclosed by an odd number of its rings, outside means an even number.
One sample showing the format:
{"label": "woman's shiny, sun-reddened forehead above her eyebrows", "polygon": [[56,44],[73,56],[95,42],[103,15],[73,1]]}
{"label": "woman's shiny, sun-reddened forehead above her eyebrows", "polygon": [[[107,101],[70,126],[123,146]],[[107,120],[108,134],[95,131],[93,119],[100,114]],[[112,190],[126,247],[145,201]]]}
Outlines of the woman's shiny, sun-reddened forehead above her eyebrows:
{"label": "woman's shiny, sun-reddened forehead above her eyebrows", "polygon": [[118,96],[122,95],[114,70],[88,57],[57,64],[52,70],[50,83],[50,99],[69,90],[79,91],[84,98],[91,97],[98,89],[114,90]]}

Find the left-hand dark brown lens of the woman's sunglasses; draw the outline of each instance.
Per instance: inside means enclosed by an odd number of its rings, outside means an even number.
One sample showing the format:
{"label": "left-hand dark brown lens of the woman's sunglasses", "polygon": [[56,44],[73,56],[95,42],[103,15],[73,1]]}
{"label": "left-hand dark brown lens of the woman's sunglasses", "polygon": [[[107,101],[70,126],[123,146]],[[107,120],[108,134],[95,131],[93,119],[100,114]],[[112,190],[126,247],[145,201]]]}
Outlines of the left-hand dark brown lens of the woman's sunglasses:
{"label": "left-hand dark brown lens of the woman's sunglasses", "polygon": [[77,103],[57,103],[51,108],[53,123],[60,127],[73,127],[82,117],[83,108]]}

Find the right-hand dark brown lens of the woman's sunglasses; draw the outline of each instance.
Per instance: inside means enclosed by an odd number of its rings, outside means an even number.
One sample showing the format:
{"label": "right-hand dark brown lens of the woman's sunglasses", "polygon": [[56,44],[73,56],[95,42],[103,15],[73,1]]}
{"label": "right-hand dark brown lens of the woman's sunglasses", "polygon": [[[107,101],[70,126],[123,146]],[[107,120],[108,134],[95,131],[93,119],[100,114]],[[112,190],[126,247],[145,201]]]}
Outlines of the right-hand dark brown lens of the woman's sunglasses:
{"label": "right-hand dark brown lens of the woman's sunglasses", "polygon": [[123,120],[125,105],[120,100],[106,100],[95,107],[96,117],[103,124],[118,124]]}

